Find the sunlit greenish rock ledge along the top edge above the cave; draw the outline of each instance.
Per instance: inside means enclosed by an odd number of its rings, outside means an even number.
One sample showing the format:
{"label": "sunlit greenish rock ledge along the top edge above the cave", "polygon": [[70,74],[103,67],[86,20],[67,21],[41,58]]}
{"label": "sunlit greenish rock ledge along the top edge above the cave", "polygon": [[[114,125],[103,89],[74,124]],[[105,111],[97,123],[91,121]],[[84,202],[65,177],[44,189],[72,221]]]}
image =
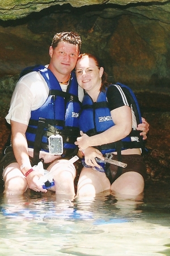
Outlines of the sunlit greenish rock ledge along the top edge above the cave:
{"label": "sunlit greenish rock ledge along the top edge above the cave", "polygon": [[[141,2],[143,3],[152,3],[152,0],[141,0],[141,1],[135,1],[135,0],[91,0],[91,1],[77,1],[77,0],[58,0],[57,5],[66,5],[69,4],[73,7],[81,7],[81,6],[89,6],[89,5],[108,5],[108,4],[113,4],[116,6],[116,9],[118,5],[120,6],[126,6],[130,3],[134,4],[132,5],[132,10],[138,2],[141,5]],[[167,2],[166,0],[155,0],[154,1],[154,7],[157,10],[157,15],[156,17],[161,14],[164,14],[164,16],[168,15],[168,7],[165,4],[160,5],[159,3],[164,3]],[[156,5],[157,3],[157,5]],[[23,18],[24,16],[27,16],[28,14],[31,14],[33,12],[39,12],[45,8],[48,8],[49,6],[56,6],[56,1],[52,0],[36,0],[36,1],[28,1],[28,0],[22,0],[22,1],[14,1],[14,0],[0,0],[0,5],[1,5],[1,13],[0,13],[0,18],[3,20],[7,19],[17,19],[17,18]],[[67,6],[67,5],[66,5]],[[125,8],[126,9],[126,8]],[[148,5],[142,5],[141,8],[140,6],[138,7],[137,10],[135,10],[135,13],[142,13],[145,14],[146,11],[146,16],[147,15],[152,15],[152,12],[150,11],[150,8]]]}

